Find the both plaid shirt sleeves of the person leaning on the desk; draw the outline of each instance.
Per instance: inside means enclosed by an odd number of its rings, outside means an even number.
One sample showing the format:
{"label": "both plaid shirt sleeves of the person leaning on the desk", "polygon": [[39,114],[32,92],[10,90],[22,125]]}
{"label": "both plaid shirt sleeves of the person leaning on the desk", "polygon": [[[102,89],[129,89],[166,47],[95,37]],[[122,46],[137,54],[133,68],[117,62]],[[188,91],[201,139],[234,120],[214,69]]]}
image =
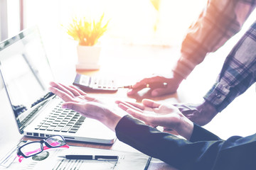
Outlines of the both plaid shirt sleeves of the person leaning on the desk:
{"label": "both plaid shirt sleeves of the person leaning on the desk", "polygon": [[[173,71],[186,79],[208,52],[218,50],[235,33],[256,6],[256,0],[209,0],[206,10],[188,30],[181,58]],[[256,22],[235,45],[206,101],[222,111],[235,97],[255,82]]]}

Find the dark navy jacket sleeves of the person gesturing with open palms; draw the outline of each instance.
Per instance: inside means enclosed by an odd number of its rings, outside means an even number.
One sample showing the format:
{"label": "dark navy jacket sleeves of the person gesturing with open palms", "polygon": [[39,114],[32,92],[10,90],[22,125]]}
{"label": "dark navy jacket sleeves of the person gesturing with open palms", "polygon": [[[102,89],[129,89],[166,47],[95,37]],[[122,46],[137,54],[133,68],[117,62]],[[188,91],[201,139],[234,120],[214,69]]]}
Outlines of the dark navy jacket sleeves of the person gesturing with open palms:
{"label": "dark navy jacket sleeves of the person gesturing with open palms", "polygon": [[[151,128],[130,115],[124,116],[115,130],[120,141],[177,169],[234,170],[256,167],[255,135],[230,137],[224,141],[195,125],[192,140],[188,141]],[[206,137],[200,137],[200,133]]]}

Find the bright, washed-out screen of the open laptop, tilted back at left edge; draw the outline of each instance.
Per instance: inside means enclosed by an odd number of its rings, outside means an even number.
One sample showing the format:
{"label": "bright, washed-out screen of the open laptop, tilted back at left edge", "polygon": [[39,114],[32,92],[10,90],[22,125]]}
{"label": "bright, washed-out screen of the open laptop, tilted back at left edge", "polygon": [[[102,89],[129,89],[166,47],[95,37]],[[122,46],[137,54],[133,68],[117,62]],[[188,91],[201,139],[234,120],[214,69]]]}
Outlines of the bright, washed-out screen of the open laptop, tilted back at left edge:
{"label": "bright, washed-out screen of the open laptop, tilted back at left edge", "polygon": [[37,27],[1,42],[0,71],[20,128],[53,80]]}

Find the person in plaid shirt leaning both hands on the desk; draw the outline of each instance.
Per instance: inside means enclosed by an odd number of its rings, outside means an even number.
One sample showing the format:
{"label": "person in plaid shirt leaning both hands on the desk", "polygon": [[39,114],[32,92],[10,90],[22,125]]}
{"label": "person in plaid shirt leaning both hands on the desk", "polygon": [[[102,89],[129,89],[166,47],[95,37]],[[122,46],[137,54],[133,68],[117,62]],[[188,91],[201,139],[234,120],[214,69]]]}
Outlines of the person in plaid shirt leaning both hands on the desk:
{"label": "person in plaid shirt leaning both hands on the desk", "polygon": [[[164,89],[153,89],[151,96],[176,92],[196,65],[203,62],[209,52],[215,52],[242,28],[255,9],[255,0],[209,0],[206,9],[189,29],[181,45],[181,57],[170,77],[152,76],[132,86],[128,95],[137,93],[142,84],[167,82]],[[223,111],[237,96],[244,93],[256,79],[256,21],[242,36],[226,57],[223,68],[213,87],[204,96],[203,103],[177,104],[176,107],[198,125],[206,125]]]}

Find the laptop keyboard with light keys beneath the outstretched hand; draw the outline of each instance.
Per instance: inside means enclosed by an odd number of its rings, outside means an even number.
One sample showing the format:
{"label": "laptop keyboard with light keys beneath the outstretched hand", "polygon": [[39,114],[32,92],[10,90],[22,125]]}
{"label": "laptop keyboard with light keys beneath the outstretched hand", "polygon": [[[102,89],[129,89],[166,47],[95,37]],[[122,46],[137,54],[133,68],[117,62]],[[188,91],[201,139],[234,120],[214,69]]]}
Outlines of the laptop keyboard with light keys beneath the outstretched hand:
{"label": "laptop keyboard with light keys beneath the outstretched hand", "polygon": [[70,109],[62,108],[62,103],[60,102],[35,129],[55,132],[77,132],[85,117]]}

